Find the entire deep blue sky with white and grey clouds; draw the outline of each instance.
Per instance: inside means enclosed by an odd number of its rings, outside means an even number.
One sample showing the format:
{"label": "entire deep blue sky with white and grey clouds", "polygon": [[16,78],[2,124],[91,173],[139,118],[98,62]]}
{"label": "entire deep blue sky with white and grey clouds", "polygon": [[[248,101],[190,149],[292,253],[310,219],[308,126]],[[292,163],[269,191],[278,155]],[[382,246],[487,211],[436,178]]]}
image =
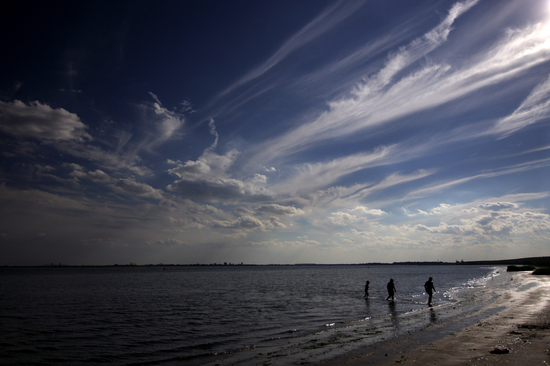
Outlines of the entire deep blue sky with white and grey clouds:
{"label": "entire deep blue sky with white and grey clouds", "polygon": [[0,265],[550,252],[550,1],[12,3]]}

